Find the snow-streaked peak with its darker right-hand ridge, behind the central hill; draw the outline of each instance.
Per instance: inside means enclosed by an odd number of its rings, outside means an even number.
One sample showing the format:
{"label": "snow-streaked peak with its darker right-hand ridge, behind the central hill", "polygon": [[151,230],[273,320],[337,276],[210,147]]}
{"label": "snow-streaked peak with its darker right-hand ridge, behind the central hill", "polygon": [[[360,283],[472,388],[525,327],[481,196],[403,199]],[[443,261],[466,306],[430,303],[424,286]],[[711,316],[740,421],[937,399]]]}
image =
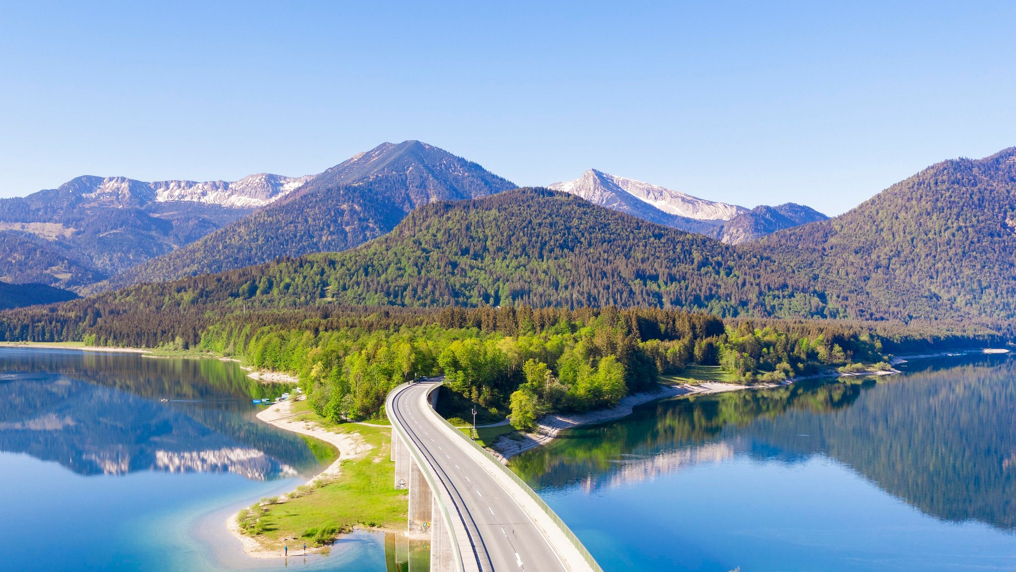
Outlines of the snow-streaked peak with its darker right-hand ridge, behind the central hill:
{"label": "snow-streaked peak with its darker right-hand ridge, behind the central hill", "polygon": [[590,169],[574,181],[554,183],[549,189],[639,218],[740,244],[799,225],[825,220],[825,214],[801,204],[743,206],[714,202]]}

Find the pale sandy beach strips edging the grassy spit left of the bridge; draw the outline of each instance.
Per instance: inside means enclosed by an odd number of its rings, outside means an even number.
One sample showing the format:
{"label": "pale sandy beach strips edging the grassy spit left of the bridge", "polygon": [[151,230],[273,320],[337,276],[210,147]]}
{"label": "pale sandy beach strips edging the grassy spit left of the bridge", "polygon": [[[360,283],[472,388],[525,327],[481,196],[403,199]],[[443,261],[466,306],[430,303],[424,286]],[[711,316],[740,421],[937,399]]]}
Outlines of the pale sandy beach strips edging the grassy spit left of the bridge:
{"label": "pale sandy beach strips edging the grassy spit left of the bridge", "polygon": [[[341,462],[343,460],[363,458],[371,450],[371,446],[368,445],[367,442],[365,442],[358,434],[332,433],[330,431],[326,431],[314,422],[298,421],[297,418],[299,417],[299,414],[293,414],[291,410],[292,408],[293,401],[275,403],[274,405],[259,411],[257,414],[257,419],[279,429],[292,431],[301,435],[307,435],[324,441],[325,443],[329,443],[338,449],[338,457],[336,457],[330,465],[325,467],[324,470],[308,481],[306,485],[314,486],[321,482],[328,482],[337,478],[341,472]],[[279,502],[285,502],[289,494],[280,496]],[[226,527],[234,537],[240,541],[244,547],[244,552],[248,556],[254,558],[283,558],[280,550],[266,547],[257,538],[248,536],[241,532],[236,514],[227,519]],[[296,543],[297,538],[293,538],[293,542]],[[326,550],[328,550],[328,547],[319,547],[317,549],[308,549],[308,553],[324,552]]]}

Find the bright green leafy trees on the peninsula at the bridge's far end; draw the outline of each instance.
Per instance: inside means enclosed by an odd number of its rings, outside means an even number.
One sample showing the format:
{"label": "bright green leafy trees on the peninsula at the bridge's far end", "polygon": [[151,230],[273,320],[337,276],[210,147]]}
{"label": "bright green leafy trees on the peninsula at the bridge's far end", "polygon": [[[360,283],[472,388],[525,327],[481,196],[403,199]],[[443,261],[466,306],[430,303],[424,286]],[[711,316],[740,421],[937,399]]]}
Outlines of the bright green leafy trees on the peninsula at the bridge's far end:
{"label": "bright green leafy trees on the peninsula at the bridge's far end", "polygon": [[649,387],[660,371],[654,359],[683,366],[694,360],[698,343],[710,347],[700,347],[700,357],[715,361],[711,348],[723,334],[712,316],[660,310],[449,308],[400,317],[383,320],[384,328],[367,320],[297,329],[220,323],[204,332],[199,346],[299,373],[311,403],[332,419],[377,416],[395,385],[437,374],[446,376],[451,391],[503,416],[533,367],[560,372],[558,400],[548,407],[584,410]]}

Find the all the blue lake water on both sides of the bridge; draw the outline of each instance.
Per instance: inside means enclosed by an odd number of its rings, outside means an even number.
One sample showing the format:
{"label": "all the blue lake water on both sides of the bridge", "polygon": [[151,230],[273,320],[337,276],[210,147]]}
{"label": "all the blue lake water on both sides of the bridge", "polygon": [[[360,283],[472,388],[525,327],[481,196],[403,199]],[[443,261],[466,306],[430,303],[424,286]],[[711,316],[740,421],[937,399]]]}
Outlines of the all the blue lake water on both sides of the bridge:
{"label": "all the blue lake water on both sides of the bridge", "polygon": [[[651,403],[512,467],[608,572],[1016,570],[1016,360],[904,369]],[[2,570],[388,569],[378,533],[283,562],[225,530],[329,460],[236,364],[0,348],[0,387]]]}

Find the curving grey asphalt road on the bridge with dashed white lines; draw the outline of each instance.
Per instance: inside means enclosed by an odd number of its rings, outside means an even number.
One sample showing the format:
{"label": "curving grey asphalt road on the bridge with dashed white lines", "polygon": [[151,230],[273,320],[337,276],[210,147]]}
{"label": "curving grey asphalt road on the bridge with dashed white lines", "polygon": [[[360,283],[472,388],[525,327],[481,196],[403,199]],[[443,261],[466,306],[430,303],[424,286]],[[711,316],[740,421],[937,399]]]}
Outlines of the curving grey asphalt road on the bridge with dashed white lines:
{"label": "curving grey asphalt road on the bridge with dashed white lines", "polygon": [[[430,407],[424,397],[434,382],[421,382],[402,389],[392,398],[393,411],[414,444],[447,487],[455,506],[448,507],[452,519],[461,517],[481,570],[495,572],[567,572],[561,558],[528,514],[501,488],[487,470],[435,425],[421,407]],[[435,492],[435,494],[437,494]],[[432,518],[439,518],[434,515]],[[477,536],[477,537],[473,537]]]}

